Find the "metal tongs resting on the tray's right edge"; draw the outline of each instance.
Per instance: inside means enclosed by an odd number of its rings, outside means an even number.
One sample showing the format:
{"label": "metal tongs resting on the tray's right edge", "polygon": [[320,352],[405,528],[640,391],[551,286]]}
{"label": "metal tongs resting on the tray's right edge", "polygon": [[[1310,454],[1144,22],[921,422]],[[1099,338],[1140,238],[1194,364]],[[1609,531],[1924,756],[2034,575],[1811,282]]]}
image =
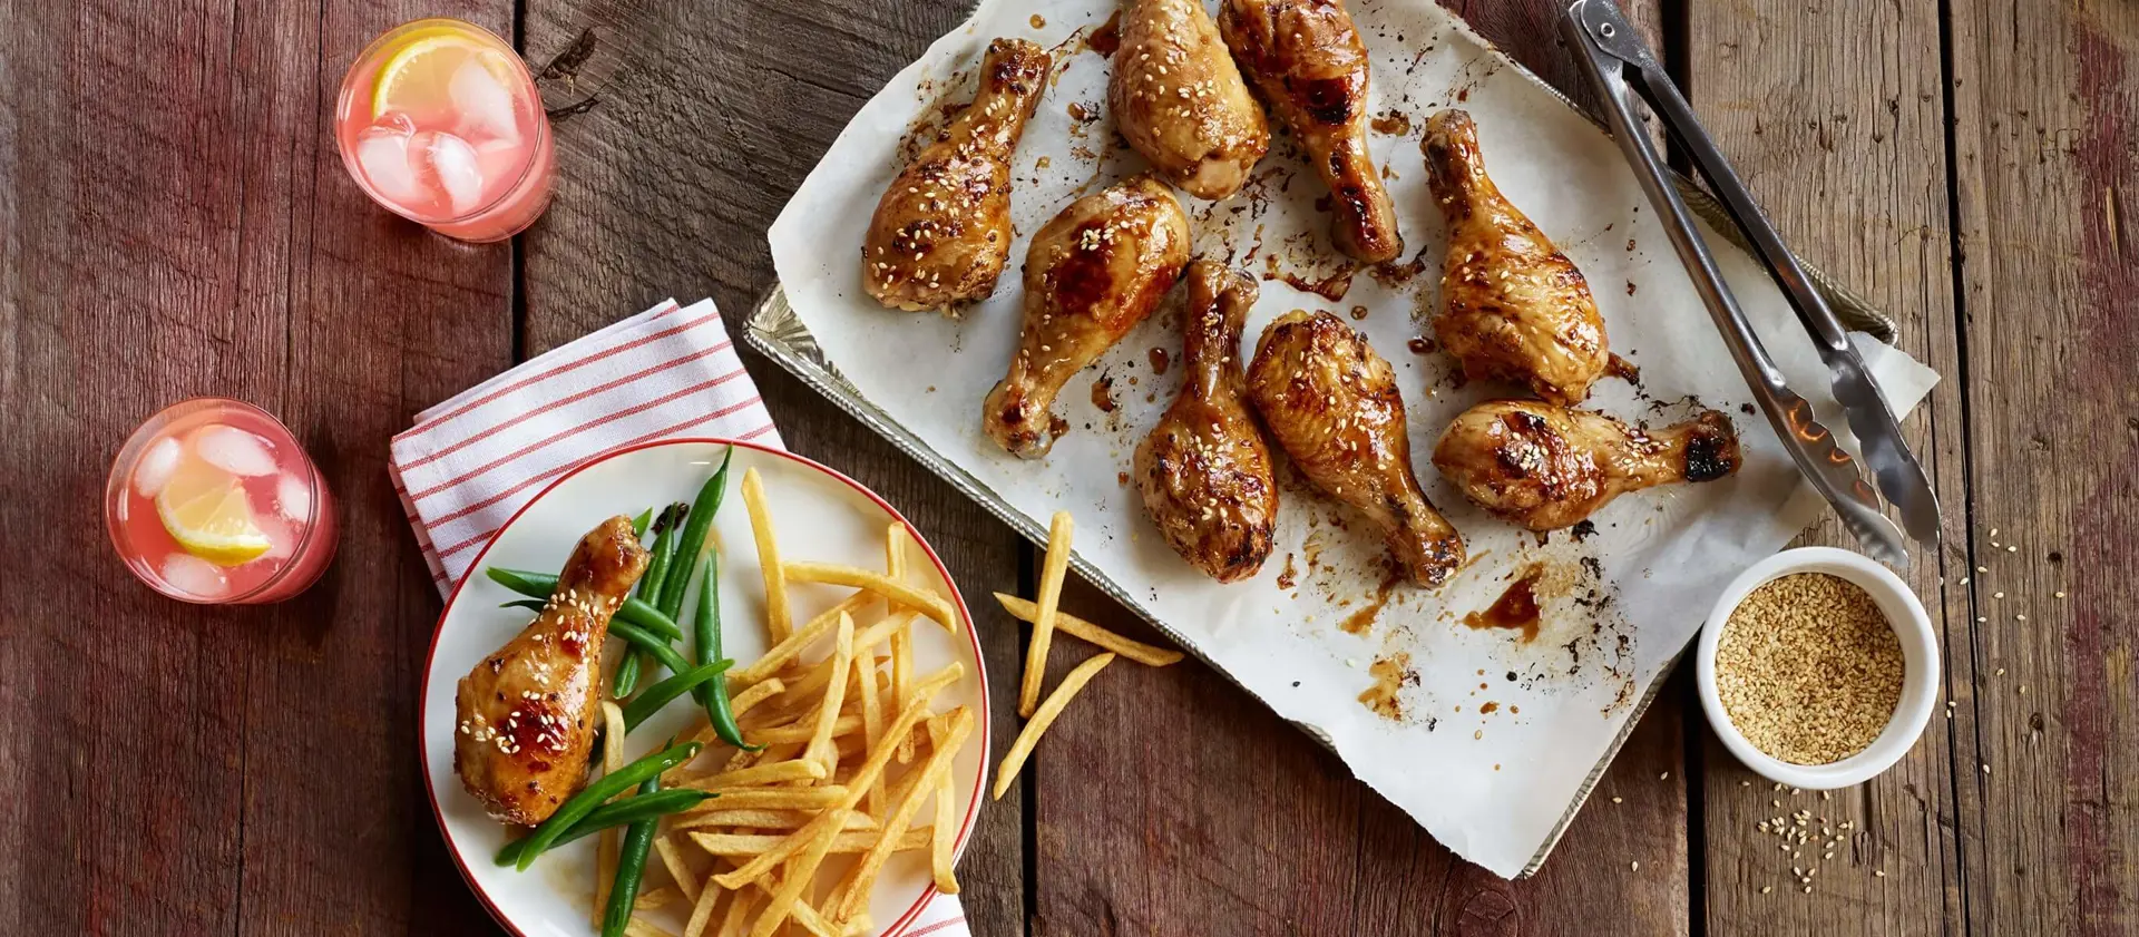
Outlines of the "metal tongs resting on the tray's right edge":
{"label": "metal tongs resting on the tray's right edge", "polygon": [[[1893,411],[1887,409],[1887,400],[1878,391],[1878,381],[1865,370],[1842,323],[1835,321],[1835,312],[1827,308],[1827,299],[1812,287],[1797,257],[1790,255],[1790,248],[1782,244],[1767,216],[1754,205],[1752,195],[1745,193],[1745,184],[1739,182],[1730,163],[1715,150],[1715,141],[1701,128],[1694,109],[1679,94],[1679,88],[1671,83],[1649,45],[1641,41],[1641,34],[1634,32],[1611,0],[1574,0],[1568,6],[1568,15],[1559,21],[1559,32],[1570,47],[1581,49],[1576,58],[1589,77],[1589,86],[1604,98],[1604,116],[1611,120],[1611,133],[1619,141],[1619,150],[1626,152],[1634,175],[1641,180],[1641,188],[1649,193],[1649,201],[1664,218],[1664,231],[1679,250],[1694,289],[1701,291],[1701,299],[1709,306],[1715,327],[1730,347],[1730,357],[1737,359],[1739,372],[1745,374],[1745,383],[1752,385],[1754,398],[1767,413],[1767,421],[1775,428],[1775,434],[1782,436],[1784,447],[1790,449],[1797,469],[1812,481],[1812,488],[1827,496],[1827,503],[1835,505],[1835,511],[1842,513],[1842,524],[1857,535],[1865,552],[1874,558],[1908,567],[1908,548],[1902,541],[1902,533],[1882,513],[1880,492],[1899,509],[1908,535],[1936,552],[1938,494],[1932,492],[1932,481],[1923,475],[1917,456],[1908,451],[1902,426],[1893,419]],[[1686,201],[1679,199],[1677,188],[1664,175],[1664,160],[1658,158],[1649,135],[1643,133],[1641,122],[1634,118],[1632,94],[1641,94],[1664,128],[1671,130],[1671,137],[1686,148],[1701,178],[1707,180],[1715,199],[1745,233],[1754,257],[1767,265],[1769,276],[1775,278],[1782,295],[1797,310],[1797,319],[1812,334],[1820,359],[1833,374],[1835,400],[1848,417],[1850,432],[1857,434],[1863,460],[1878,479],[1878,490],[1865,483],[1857,471],[1857,460],[1835,445],[1833,432],[1814,419],[1812,404],[1784,383],[1782,370],[1775,368],[1767,349],[1760,347],[1760,336],[1754,334],[1745,310],[1730,295],[1722,272],[1715,270],[1715,259],[1694,229],[1694,218]]]}

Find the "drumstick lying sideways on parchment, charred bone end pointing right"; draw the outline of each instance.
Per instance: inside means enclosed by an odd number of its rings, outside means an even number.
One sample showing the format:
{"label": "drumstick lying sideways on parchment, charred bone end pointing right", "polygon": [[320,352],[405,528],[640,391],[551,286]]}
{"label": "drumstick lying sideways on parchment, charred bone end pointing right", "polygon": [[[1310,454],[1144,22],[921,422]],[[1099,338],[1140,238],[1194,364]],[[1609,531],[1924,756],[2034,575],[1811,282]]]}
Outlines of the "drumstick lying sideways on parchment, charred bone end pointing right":
{"label": "drumstick lying sideways on parchment, charred bone end pointing right", "polygon": [[1489,400],[1448,424],[1433,466],[1489,513],[1555,531],[1626,492],[1730,475],[1739,445],[1730,419],[1715,411],[1638,430],[1602,413]]}

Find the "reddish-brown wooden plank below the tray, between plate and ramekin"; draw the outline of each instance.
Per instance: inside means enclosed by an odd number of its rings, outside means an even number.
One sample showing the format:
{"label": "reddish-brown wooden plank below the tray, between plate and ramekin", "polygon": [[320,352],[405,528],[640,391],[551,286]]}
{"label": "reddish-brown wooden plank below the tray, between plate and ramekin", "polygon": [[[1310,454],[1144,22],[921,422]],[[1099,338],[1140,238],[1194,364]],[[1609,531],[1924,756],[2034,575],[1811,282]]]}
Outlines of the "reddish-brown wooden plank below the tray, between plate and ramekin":
{"label": "reddish-brown wooden plank below the tray, between plate and ramekin", "polygon": [[[1574,90],[1555,4],[1450,6]],[[1656,4],[1632,6],[1658,21]],[[1147,633],[1089,586],[1065,590],[1065,603]],[[1050,685],[1087,655],[1059,642]],[[1666,687],[1544,871],[1502,881],[1209,667],[1119,663],[1055,723],[1029,768],[1033,933],[1579,933],[1600,907],[1628,933],[1688,933],[1686,697]]]}

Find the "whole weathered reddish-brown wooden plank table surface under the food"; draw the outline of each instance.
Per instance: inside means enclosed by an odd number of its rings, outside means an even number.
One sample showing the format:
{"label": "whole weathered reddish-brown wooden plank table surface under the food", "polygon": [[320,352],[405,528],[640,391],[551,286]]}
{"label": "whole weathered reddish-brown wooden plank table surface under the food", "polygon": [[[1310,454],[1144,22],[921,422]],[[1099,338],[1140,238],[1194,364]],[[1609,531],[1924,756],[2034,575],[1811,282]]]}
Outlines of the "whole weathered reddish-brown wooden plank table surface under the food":
{"label": "whole weathered reddish-brown wooden plank table surface under the food", "polygon": [[[1551,2],[1448,2],[1574,83]],[[387,436],[670,295],[740,323],[787,195],[963,6],[0,0],[0,933],[496,933],[415,759],[438,597]],[[1869,785],[1771,792],[1675,676],[1544,871],[1502,881],[1206,667],[1114,667],[982,813],[975,933],[2139,933],[2139,6],[1636,6],[1786,237],[1944,374],[1908,430],[1946,546],[1910,582],[1951,721]],[[556,120],[556,203],[511,244],[394,220],[332,145],[355,51],[428,13],[537,64],[593,30],[545,81],[588,103]],[[749,364],[789,445],[903,505],[967,595],[1031,586],[1005,526]],[[278,413],[342,498],[304,597],[186,608],[113,558],[105,471],[190,394]],[[1001,697],[1020,633],[975,612]],[[1852,824],[1810,894],[1756,830],[1801,807]]]}

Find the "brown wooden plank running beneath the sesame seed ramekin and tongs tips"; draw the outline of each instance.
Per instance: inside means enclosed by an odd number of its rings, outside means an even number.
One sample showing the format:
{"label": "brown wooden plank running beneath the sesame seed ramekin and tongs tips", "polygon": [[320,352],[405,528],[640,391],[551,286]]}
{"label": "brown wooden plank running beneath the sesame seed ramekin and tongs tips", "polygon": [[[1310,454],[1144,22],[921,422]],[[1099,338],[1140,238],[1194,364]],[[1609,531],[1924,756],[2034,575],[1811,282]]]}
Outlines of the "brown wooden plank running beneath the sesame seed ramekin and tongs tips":
{"label": "brown wooden plank running beneath the sesame seed ramekin and tongs tips", "polygon": [[[1957,374],[1944,96],[1940,62],[1927,53],[1938,45],[1938,4],[1878,4],[1848,30],[1825,11],[1782,0],[1694,4],[1688,15],[1694,109],[1786,242],[1891,312],[1904,351]],[[1964,413],[1961,383],[1949,379],[1904,424],[1944,494],[1949,546],[1966,541]],[[1799,543],[1857,546],[1831,513]],[[1934,625],[1955,638],[1968,620],[1964,610],[1940,614],[1940,578],[1959,580],[1964,565],[1949,550],[1919,554],[1908,571]],[[1705,744],[1709,933],[1961,933],[1953,725],[1936,715],[1897,768],[1820,796],[1775,792],[1694,723]],[[1758,830],[1778,817],[1788,826],[1799,809],[1812,811],[1814,834],[1833,830],[1844,841],[1829,849],[1831,836],[1816,836],[1784,849],[1782,836]],[[1797,869],[1816,869],[1810,894]]]}

